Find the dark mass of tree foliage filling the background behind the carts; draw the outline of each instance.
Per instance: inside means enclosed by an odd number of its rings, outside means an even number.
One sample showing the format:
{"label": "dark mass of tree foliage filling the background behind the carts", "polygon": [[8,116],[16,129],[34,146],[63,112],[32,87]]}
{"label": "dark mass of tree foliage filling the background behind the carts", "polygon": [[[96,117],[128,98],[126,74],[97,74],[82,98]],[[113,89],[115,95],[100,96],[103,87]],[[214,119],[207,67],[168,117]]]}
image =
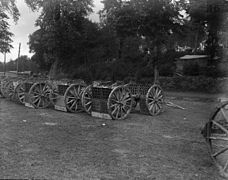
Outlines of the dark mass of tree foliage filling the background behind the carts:
{"label": "dark mass of tree foliage filling the background behind the carts", "polygon": [[[90,0],[26,2],[41,10],[39,30],[30,35],[32,61],[45,71],[57,62],[59,74],[88,81],[150,81],[155,66],[161,76],[173,76],[175,58],[184,55],[175,46],[198,47],[212,22],[200,10],[204,4],[195,6],[193,0],[104,0],[100,24],[87,18]],[[195,65],[184,71],[209,76],[209,69],[199,72]]]}

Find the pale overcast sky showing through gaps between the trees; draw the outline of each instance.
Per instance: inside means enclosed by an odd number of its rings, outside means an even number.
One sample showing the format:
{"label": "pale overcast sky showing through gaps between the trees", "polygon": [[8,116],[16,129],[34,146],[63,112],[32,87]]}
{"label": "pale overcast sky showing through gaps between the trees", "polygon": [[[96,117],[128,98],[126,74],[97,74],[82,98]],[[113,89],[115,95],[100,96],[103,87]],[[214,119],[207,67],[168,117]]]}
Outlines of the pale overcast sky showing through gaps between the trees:
{"label": "pale overcast sky showing through gaps between the trees", "polygon": [[[98,21],[99,16],[97,12],[102,9],[103,4],[100,2],[101,0],[94,0],[94,13],[90,16],[90,19],[93,21]],[[18,57],[18,49],[19,43],[21,43],[21,55],[28,55],[29,57],[32,54],[29,53],[28,41],[29,34],[32,34],[37,27],[34,26],[35,20],[39,16],[39,13],[32,12],[27,5],[24,3],[24,0],[17,0],[17,7],[20,11],[20,19],[17,24],[11,22],[11,32],[13,32],[13,49],[11,49],[11,53],[7,54],[7,62],[10,59],[15,60]],[[3,55],[0,56],[0,61],[3,62]]]}

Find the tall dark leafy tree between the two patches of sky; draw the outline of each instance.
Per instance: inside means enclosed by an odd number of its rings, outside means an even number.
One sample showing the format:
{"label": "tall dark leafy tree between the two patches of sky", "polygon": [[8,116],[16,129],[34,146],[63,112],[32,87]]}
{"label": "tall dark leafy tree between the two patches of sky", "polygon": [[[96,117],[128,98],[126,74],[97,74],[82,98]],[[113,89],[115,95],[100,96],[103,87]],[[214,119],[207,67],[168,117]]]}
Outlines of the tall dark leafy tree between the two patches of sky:
{"label": "tall dark leafy tree between the two patches of sky", "polygon": [[[92,12],[92,0],[26,0],[26,3],[32,10],[41,10],[36,21],[40,30],[30,36],[30,48],[36,53],[33,58],[65,67],[81,61],[83,26]],[[78,54],[74,62],[72,54]]]}

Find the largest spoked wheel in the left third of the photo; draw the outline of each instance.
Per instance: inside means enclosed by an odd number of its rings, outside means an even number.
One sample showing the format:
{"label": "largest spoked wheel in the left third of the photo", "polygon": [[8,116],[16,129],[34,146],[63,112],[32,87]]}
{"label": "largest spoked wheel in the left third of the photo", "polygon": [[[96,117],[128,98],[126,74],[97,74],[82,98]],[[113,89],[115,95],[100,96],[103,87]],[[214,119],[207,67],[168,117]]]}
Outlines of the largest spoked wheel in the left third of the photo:
{"label": "largest spoked wheel in the left third of the photo", "polygon": [[50,106],[50,93],[52,86],[45,82],[39,82],[32,85],[29,90],[30,103],[35,108],[47,108]]}

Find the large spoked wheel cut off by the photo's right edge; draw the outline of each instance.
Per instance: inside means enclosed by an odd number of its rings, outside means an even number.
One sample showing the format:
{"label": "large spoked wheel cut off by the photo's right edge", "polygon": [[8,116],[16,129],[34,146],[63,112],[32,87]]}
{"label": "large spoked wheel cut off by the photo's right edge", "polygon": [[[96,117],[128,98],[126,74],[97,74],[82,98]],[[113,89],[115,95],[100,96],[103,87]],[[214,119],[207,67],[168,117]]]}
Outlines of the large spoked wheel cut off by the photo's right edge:
{"label": "large spoked wheel cut off by the photo's right edge", "polygon": [[218,107],[202,134],[208,144],[212,160],[221,174],[228,177],[228,102]]}

